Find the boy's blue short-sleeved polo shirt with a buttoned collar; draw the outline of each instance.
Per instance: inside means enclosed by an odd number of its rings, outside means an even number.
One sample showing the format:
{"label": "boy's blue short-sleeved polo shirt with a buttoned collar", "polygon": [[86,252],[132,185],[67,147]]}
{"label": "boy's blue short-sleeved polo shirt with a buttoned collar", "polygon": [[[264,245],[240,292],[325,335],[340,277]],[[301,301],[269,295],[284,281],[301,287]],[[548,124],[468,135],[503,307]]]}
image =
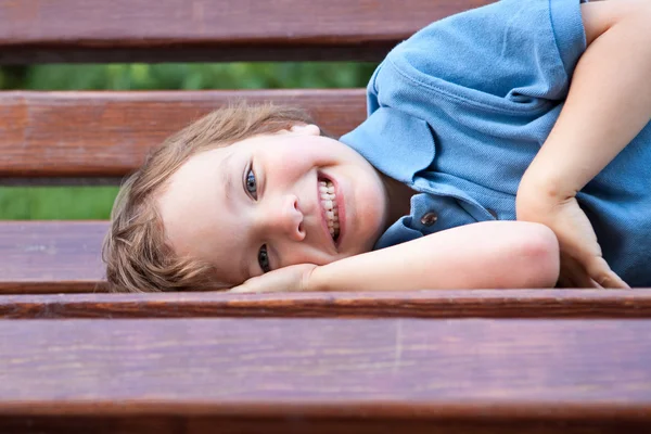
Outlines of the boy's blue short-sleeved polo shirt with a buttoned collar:
{"label": "boy's blue short-sleeved polo shirt with a buttoned collar", "polygon": [[[578,0],[502,0],[397,46],[368,85],[367,120],[341,138],[419,192],[375,247],[514,220],[522,175],[585,50]],[[651,124],[577,200],[612,269],[633,286],[651,286]]]}

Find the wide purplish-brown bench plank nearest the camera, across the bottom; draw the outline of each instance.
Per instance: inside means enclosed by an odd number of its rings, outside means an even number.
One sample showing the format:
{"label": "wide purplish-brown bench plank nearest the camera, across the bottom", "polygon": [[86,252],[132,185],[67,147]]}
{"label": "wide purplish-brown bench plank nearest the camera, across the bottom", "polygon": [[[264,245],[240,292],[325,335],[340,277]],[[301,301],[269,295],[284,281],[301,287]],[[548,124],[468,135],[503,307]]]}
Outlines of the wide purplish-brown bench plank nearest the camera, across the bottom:
{"label": "wide purplish-brown bench plank nearest the camera, across the bottom", "polygon": [[252,432],[269,421],[272,432],[310,433],[326,432],[319,423],[346,433],[365,424],[419,433],[648,430],[650,328],[650,320],[0,321],[0,429],[35,432],[44,420],[77,432],[106,432],[106,421],[114,432],[138,424],[138,432],[166,424],[163,432],[224,432],[232,421]]}

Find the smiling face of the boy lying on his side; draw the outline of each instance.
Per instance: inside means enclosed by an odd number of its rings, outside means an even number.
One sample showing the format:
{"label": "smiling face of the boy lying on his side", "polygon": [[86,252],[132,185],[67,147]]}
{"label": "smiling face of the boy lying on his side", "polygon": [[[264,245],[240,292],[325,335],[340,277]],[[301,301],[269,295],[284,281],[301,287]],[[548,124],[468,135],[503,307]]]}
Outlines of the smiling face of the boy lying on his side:
{"label": "smiling face of the boy lying on his side", "polygon": [[370,251],[387,199],[361,155],[308,125],[192,156],[158,208],[177,254],[207,260],[225,283],[240,284],[265,270]]}

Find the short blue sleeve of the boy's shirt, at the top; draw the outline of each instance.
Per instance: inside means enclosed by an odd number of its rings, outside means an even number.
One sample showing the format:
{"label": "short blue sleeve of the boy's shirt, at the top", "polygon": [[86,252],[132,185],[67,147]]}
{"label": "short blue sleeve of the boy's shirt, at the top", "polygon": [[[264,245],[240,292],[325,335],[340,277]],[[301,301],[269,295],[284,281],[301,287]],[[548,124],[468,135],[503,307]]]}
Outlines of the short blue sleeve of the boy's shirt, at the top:
{"label": "short blue sleeve of the boy's shirt, at the top", "polygon": [[452,15],[396,47],[381,67],[391,64],[413,85],[482,103],[563,100],[586,50],[580,2],[502,0]]}

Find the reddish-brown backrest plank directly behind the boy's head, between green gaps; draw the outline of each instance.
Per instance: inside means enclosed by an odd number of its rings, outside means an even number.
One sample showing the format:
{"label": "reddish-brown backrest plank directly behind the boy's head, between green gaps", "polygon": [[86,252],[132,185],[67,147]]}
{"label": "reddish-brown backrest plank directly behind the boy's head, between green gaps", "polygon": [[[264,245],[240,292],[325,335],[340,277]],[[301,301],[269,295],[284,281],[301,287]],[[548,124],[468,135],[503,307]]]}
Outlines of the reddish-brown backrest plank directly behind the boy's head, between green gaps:
{"label": "reddish-brown backrest plank directly behind the boy's head, between green gaps", "polygon": [[241,99],[302,106],[337,137],[366,118],[363,89],[2,92],[0,178],[119,178],[152,145]]}

